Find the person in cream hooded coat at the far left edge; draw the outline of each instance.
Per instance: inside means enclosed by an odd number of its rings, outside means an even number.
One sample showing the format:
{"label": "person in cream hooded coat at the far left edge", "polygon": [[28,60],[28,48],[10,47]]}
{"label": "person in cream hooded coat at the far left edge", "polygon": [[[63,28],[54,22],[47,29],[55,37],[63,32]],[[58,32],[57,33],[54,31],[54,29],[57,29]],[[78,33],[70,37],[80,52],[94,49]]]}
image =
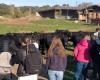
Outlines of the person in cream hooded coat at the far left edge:
{"label": "person in cream hooded coat at the far left edge", "polygon": [[11,53],[1,52],[0,53],[0,80],[7,79],[11,80],[11,65],[10,65]]}

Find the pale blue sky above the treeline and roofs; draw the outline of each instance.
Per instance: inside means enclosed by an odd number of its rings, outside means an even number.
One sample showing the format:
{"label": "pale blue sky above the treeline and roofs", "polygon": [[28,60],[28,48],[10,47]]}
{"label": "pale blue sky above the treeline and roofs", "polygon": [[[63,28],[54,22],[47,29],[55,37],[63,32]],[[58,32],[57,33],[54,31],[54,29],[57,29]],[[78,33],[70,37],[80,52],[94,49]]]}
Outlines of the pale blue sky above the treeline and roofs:
{"label": "pale blue sky above the treeline and roofs", "polygon": [[92,2],[93,4],[100,4],[100,0],[0,0],[0,3],[6,3],[8,5],[14,4],[15,6],[43,6],[55,4],[69,4],[75,6],[76,3]]}

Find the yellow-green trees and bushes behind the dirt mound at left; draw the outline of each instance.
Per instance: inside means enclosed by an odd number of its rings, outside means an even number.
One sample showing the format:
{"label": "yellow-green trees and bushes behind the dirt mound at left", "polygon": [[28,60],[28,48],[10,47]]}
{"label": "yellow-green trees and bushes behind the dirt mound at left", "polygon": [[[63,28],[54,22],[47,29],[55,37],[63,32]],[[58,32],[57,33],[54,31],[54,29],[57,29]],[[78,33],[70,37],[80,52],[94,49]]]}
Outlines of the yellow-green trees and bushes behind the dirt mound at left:
{"label": "yellow-green trees and bushes behind the dirt mound at left", "polygon": [[22,6],[15,7],[14,5],[0,4],[0,16],[20,18],[36,13],[36,7]]}

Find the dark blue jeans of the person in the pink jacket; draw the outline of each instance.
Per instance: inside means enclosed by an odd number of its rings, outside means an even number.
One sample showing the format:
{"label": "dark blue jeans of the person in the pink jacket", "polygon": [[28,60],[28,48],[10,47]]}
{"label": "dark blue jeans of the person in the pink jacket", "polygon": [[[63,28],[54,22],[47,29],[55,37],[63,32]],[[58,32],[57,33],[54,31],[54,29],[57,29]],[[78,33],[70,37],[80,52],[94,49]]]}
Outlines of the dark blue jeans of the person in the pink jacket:
{"label": "dark blue jeans of the person in the pink jacket", "polygon": [[75,80],[85,80],[87,75],[87,65],[85,62],[77,62]]}

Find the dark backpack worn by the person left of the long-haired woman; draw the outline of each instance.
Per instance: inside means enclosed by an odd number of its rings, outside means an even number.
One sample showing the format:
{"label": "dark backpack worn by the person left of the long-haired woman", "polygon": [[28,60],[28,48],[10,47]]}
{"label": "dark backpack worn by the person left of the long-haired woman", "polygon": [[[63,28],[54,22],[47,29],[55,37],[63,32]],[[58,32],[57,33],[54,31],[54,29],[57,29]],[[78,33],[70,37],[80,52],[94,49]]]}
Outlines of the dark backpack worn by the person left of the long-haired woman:
{"label": "dark backpack worn by the person left of the long-haired woman", "polygon": [[27,56],[25,59],[25,71],[28,74],[36,74],[40,72],[41,54],[34,44],[28,45]]}

